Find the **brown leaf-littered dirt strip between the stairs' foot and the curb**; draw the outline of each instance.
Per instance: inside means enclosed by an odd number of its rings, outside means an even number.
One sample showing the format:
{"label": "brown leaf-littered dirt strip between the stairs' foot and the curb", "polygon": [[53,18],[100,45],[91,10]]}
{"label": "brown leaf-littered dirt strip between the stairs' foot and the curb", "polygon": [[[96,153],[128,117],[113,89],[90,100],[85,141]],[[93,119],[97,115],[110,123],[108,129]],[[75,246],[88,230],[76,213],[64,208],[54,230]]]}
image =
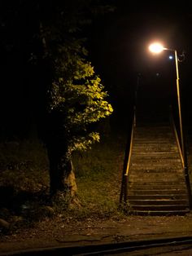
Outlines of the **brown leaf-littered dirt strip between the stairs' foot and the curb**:
{"label": "brown leaf-littered dirt strip between the stairs' foot and the curb", "polygon": [[47,218],[0,241],[0,255],[23,249],[93,245],[171,236],[192,236],[192,214],[185,216],[128,216],[84,221]]}

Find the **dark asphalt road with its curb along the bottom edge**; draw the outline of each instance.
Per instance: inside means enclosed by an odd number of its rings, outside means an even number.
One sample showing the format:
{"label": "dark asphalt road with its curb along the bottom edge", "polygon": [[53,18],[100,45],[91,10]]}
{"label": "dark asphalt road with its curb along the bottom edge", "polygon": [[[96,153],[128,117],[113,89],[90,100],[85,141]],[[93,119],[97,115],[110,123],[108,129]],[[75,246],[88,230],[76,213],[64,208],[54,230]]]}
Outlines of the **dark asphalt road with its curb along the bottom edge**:
{"label": "dark asphalt road with its curb along the bottom edge", "polygon": [[170,237],[155,240],[128,241],[116,244],[80,245],[72,247],[52,247],[33,250],[21,250],[5,253],[7,256],[33,255],[192,255],[192,236]]}

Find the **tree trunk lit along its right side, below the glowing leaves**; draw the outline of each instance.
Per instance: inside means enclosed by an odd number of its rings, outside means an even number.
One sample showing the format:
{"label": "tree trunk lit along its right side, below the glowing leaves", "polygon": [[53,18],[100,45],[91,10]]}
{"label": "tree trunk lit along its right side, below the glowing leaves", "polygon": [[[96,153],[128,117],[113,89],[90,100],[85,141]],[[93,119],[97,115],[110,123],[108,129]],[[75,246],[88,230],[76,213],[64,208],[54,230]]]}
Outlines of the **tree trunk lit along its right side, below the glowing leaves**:
{"label": "tree trunk lit along its right side, below the glowing leaves", "polygon": [[63,200],[76,198],[76,179],[71,157],[68,155],[68,135],[63,126],[63,113],[48,113],[41,118],[41,139],[46,144],[50,164],[50,198],[62,193]]}

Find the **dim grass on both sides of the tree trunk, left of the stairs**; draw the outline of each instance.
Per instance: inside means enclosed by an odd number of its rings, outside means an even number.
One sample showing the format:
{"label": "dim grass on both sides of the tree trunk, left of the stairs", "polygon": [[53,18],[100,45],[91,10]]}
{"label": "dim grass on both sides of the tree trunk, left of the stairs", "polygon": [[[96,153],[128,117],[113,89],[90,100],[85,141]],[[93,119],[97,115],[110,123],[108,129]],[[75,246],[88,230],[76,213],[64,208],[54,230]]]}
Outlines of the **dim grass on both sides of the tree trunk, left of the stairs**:
{"label": "dim grass on both sides of the tree trunk, left of the stairs", "polygon": [[[60,202],[54,214],[68,218],[117,216],[126,135],[111,133],[87,152],[72,157],[81,207],[66,210]],[[49,192],[49,163],[41,143],[22,141],[0,144],[0,218],[21,223],[52,216],[45,207]],[[6,194],[6,196],[5,196]],[[63,211],[63,209],[65,209]],[[63,211],[63,212],[62,212]],[[15,227],[18,227],[16,223]],[[0,228],[1,229],[1,228]]]}

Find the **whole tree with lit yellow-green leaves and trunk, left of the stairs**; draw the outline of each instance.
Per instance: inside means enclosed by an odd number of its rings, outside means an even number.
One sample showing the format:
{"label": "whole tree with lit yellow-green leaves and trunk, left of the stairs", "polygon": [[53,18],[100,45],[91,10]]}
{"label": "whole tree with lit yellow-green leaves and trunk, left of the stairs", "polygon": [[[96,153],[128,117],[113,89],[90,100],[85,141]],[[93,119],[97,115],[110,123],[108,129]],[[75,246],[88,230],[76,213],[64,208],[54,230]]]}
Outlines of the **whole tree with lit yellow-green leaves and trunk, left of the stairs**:
{"label": "whole tree with lit yellow-green leaves and trunk, left of the stairs", "polygon": [[51,23],[40,21],[41,64],[48,67],[45,73],[51,73],[43,132],[50,160],[50,194],[69,192],[74,201],[72,152],[86,150],[99,141],[99,134],[91,126],[111,115],[112,107],[100,77],[87,60],[85,38],[81,36],[82,24],[88,23],[85,14],[80,15],[83,5],[77,2],[74,8],[67,3],[56,6],[55,13],[51,11]]}

